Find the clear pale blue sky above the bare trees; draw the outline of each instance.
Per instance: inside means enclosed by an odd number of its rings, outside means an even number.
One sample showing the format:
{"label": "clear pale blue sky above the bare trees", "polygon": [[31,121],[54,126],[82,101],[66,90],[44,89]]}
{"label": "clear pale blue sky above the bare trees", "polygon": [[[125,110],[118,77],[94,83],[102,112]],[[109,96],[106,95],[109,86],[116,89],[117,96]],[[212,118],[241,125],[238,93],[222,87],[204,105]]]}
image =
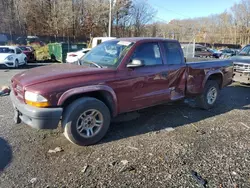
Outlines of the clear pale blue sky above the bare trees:
{"label": "clear pale blue sky above the bare trees", "polygon": [[240,0],[147,0],[157,10],[155,20],[169,22],[219,14],[230,10]]}

